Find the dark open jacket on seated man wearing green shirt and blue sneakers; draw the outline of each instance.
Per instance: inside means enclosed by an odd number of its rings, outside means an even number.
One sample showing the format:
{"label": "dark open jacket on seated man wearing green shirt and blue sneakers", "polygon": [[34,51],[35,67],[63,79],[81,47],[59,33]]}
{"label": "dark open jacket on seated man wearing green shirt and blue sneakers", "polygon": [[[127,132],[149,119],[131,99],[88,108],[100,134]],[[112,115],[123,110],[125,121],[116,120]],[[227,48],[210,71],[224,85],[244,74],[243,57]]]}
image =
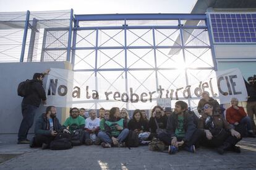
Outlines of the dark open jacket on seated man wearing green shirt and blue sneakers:
{"label": "dark open jacket on seated man wearing green shirt and blue sneakers", "polygon": [[[175,137],[175,130],[177,128],[177,124],[178,124],[178,115],[177,114],[173,113],[170,116],[168,116],[168,122],[167,122],[167,127],[165,130],[165,133],[171,135],[171,137]],[[195,127],[195,124],[193,122],[191,114],[184,113],[183,127],[184,127],[186,134],[182,140],[184,142],[187,142],[190,140],[190,138],[194,134],[195,130],[197,130],[197,128]]]}

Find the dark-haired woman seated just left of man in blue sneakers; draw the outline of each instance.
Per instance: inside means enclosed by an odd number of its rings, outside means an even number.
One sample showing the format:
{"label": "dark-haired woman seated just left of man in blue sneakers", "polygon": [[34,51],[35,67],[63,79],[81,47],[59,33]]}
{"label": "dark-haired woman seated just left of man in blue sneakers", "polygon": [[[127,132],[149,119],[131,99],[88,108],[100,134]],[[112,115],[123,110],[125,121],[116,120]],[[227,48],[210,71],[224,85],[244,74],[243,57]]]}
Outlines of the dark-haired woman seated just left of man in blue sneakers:
{"label": "dark-haired woman seated just left of man in blue sneakers", "polygon": [[[152,109],[148,125],[150,128],[150,137],[148,137],[149,140],[151,140],[153,137],[157,137],[158,134],[161,133],[160,131],[166,129],[167,116],[164,113],[163,108],[161,108],[161,106],[155,106]],[[156,129],[159,129],[158,133],[156,132]]]}

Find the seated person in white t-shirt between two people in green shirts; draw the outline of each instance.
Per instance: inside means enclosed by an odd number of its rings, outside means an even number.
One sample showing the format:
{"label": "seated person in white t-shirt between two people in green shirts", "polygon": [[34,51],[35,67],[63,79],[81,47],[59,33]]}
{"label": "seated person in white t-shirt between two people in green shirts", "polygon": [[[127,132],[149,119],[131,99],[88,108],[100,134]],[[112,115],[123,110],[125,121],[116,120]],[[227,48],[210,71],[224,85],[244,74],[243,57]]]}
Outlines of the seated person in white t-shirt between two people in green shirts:
{"label": "seated person in white t-shirt between two people in green shirts", "polygon": [[98,140],[98,131],[100,130],[100,119],[96,117],[96,111],[93,109],[89,110],[89,115],[85,120],[85,144],[92,145],[100,145],[100,140]]}

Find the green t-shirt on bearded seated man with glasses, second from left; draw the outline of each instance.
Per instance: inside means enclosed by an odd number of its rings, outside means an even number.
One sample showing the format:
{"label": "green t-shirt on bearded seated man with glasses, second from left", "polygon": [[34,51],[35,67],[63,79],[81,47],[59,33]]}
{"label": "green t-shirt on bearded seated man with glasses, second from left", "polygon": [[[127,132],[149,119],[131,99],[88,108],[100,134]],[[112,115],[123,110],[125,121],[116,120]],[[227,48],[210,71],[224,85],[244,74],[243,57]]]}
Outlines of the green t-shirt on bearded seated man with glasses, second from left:
{"label": "green t-shirt on bearded seated man with glasses, second from left", "polygon": [[85,125],[85,119],[82,116],[78,116],[75,119],[70,116],[66,119],[63,125],[69,127],[70,132],[74,132],[74,130],[80,129],[80,125]]}

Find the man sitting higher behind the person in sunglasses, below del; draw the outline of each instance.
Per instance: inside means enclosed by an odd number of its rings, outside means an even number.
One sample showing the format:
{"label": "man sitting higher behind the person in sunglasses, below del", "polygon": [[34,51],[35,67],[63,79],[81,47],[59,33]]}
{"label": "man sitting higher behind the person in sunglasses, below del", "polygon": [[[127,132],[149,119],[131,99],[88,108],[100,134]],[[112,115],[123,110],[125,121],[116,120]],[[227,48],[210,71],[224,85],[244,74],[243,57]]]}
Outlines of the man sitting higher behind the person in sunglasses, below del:
{"label": "man sitting higher behind the person in sunglasses, below del", "polygon": [[207,102],[210,102],[213,104],[215,111],[221,112],[220,104],[218,101],[216,101],[214,98],[210,97],[210,94],[208,91],[203,91],[202,93],[202,99],[198,102],[197,111],[199,114],[202,113],[203,105]]}

